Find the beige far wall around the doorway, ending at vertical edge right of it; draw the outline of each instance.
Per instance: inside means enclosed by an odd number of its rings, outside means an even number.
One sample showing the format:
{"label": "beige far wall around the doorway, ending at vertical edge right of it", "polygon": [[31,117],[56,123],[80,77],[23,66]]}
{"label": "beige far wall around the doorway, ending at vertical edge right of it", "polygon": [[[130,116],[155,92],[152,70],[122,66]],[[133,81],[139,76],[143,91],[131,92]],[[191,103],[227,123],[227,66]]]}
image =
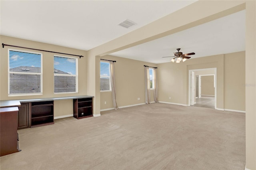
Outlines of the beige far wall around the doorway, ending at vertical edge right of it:
{"label": "beige far wall around the doorway, ending at vertical edge right of it", "polygon": [[224,55],[189,59],[179,64],[162,63],[158,64],[158,67],[159,82],[161,82],[158,100],[182,105],[188,105],[189,70],[217,68],[217,108],[224,109]]}

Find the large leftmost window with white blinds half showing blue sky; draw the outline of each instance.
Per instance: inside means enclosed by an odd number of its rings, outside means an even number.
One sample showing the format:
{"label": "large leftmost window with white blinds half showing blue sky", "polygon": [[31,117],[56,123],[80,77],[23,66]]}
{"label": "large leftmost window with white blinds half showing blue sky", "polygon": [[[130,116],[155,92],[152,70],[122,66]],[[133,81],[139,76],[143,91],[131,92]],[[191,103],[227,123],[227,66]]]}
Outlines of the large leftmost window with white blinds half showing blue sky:
{"label": "large leftmost window with white blinds half showing blue sky", "polygon": [[8,95],[42,93],[42,53],[8,49]]}

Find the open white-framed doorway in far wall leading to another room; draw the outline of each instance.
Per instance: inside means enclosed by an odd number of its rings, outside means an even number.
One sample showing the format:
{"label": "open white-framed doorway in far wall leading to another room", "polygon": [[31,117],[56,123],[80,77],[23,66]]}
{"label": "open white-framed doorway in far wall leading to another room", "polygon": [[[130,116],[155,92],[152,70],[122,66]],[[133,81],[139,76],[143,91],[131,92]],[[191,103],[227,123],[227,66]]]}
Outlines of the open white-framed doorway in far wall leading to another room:
{"label": "open white-framed doorway in far wall leading to another room", "polygon": [[216,109],[217,68],[189,70],[188,105]]}

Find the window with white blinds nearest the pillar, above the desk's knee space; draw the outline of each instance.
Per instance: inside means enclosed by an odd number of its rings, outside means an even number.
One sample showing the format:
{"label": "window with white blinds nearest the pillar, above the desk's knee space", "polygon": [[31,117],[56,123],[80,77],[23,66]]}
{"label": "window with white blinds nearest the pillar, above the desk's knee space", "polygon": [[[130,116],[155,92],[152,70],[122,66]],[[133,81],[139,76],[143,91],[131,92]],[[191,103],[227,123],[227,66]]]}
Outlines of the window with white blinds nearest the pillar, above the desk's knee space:
{"label": "window with white blinds nearest the pillar, above the desk's knee space", "polygon": [[54,55],[54,93],[78,92],[77,58]]}

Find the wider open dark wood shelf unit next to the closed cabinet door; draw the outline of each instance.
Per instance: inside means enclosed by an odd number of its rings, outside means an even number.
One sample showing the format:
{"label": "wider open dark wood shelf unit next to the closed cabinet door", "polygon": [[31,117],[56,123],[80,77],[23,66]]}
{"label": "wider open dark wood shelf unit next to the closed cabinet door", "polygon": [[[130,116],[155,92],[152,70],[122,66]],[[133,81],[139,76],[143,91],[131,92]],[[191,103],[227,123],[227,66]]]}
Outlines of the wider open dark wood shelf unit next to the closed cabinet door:
{"label": "wider open dark wood shelf unit next to the closed cabinet door", "polygon": [[54,124],[54,101],[31,102],[31,127]]}

